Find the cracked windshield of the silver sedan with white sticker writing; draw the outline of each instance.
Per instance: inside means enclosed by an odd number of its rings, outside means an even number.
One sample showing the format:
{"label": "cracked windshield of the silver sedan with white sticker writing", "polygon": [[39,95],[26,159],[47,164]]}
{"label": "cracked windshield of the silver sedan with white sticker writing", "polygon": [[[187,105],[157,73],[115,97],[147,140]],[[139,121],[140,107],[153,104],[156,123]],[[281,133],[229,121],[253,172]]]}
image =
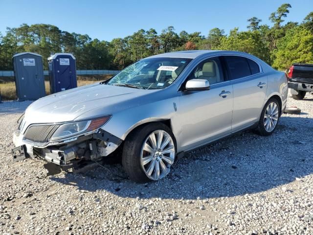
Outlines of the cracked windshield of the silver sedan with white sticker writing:
{"label": "cracked windshield of the silver sedan with white sticker writing", "polygon": [[119,72],[107,84],[146,90],[164,89],[177,79],[190,61],[186,58],[140,60]]}

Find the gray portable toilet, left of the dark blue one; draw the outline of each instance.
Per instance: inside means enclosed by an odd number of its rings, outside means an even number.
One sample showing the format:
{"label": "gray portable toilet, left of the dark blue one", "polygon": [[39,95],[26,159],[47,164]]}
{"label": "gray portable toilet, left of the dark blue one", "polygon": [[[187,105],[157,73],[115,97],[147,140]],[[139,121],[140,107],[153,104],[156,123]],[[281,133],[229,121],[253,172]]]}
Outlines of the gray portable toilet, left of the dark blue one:
{"label": "gray portable toilet, left of the dark blue one", "polygon": [[36,100],[45,96],[42,56],[32,52],[15,54],[12,58],[18,101]]}

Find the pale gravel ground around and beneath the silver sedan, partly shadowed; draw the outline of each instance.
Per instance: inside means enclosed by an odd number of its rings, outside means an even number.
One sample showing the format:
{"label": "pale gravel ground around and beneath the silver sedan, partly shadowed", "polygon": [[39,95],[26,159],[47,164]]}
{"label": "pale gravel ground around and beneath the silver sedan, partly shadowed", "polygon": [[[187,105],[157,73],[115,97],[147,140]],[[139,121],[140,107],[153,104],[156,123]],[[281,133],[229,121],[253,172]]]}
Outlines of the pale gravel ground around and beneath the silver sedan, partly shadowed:
{"label": "pale gravel ground around and beneath the silver sedan, partly shadowed", "polygon": [[[288,106],[270,137],[250,131],[193,151],[160,182],[135,184],[120,165],[61,172],[13,163],[16,121],[30,102],[0,104],[0,233],[313,234],[313,95]],[[47,170],[49,169],[49,171]]]}

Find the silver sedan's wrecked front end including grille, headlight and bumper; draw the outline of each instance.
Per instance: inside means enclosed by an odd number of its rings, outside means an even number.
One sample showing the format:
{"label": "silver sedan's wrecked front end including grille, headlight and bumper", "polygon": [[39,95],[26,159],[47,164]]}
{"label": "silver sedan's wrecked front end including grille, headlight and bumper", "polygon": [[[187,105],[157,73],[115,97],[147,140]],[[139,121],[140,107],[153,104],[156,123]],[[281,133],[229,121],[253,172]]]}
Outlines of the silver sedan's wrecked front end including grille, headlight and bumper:
{"label": "silver sedan's wrecked front end including grille, headlight and bumper", "polygon": [[122,140],[101,129],[111,116],[88,120],[31,124],[23,120],[14,134],[14,161],[39,157],[70,168],[82,160],[96,161],[114,152]]}

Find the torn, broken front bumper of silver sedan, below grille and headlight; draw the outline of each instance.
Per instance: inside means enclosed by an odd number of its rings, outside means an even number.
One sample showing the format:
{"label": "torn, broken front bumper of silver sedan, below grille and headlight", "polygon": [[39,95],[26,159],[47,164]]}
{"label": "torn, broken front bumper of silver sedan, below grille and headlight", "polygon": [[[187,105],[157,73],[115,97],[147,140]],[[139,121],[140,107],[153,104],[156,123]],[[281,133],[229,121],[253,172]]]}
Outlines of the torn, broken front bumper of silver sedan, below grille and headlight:
{"label": "torn, broken front bumper of silver sedan, below grille and headlight", "polygon": [[[13,142],[16,146],[12,149],[13,156],[14,150],[18,151],[19,146],[22,146],[25,157],[38,157],[46,162],[71,167],[82,160],[96,161],[110,155],[118,148],[122,140],[99,129],[89,135],[44,144],[25,140],[22,134],[16,132]],[[22,159],[24,158],[15,157],[14,161]]]}

